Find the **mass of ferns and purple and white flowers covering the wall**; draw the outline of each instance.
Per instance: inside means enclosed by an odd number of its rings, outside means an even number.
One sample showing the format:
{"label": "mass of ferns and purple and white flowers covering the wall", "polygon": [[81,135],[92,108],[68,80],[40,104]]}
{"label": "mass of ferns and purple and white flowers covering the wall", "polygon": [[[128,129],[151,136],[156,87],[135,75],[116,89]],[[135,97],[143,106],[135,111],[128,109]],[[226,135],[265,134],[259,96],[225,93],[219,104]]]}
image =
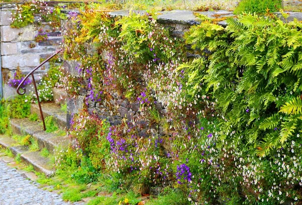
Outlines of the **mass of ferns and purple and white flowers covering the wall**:
{"label": "mass of ferns and purple and white flowers covering the wall", "polygon": [[[300,22],[244,14],[224,28],[198,15],[185,39],[201,57],[188,60],[152,13],[111,18],[87,7],[70,18],[64,57],[79,61],[90,94],[62,164],[92,181],[110,176],[112,190],[170,185],[192,204],[300,200]],[[102,102],[118,115],[116,94],[139,108],[104,126],[91,110]]]}

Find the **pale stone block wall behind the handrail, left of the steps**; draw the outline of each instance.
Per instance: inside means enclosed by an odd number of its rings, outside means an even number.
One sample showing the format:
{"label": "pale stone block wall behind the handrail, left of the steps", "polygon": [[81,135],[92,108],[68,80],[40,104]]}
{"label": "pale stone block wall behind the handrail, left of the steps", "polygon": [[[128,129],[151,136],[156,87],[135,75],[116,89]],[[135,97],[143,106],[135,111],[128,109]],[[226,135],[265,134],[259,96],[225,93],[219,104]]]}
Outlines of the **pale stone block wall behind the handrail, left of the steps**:
{"label": "pale stone block wall behind the handrail, left of the steps", "polygon": [[[35,42],[38,27],[29,25],[20,29],[12,28],[12,11],[16,8],[14,4],[0,5],[0,35],[1,35],[1,67],[2,67],[2,91],[3,97],[8,99],[15,96],[16,88],[7,83],[14,75],[17,67],[23,74],[28,74],[40,61],[52,55],[61,42],[60,32],[53,31],[47,23],[42,23],[42,28],[47,31],[48,40]],[[40,27],[39,27],[40,28]],[[35,72],[38,81],[47,72],[49,64],[46,63]],[[29,89],[27,89],[29,91]],[[1,92],[0,92],[1,94]]]}

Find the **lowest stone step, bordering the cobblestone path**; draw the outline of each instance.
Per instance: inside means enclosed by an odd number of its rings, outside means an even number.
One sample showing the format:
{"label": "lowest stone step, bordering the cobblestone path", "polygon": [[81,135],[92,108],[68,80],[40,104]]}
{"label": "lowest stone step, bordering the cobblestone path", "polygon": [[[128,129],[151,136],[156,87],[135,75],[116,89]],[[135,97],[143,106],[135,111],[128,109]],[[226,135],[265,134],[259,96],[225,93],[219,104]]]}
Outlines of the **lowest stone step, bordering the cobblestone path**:
{"label": "lowest stone step, bordering the cobblestone path", "polygon": [[37,172],[51,176],[54,173],[50,160],[42,157],[40,152],[31,152],[27,146],[17,145],[17,142],[9,136],[0,135],[0,145],[9,148],[14,156],[20,155],[20,159],[26,165],[32,165]]}

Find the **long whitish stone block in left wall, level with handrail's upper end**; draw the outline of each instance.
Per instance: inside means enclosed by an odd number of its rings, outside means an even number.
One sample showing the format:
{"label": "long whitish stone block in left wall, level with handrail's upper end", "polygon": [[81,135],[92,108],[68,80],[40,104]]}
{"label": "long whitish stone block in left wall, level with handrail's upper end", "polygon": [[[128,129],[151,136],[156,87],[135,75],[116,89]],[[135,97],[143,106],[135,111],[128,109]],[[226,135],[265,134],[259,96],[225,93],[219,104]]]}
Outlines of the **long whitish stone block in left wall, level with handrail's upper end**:
{"label": "long whitish stone block in left wall, level with handrail's upper end", "polygon": [[5,69],[16,69],[20,67],[35,67],[40,64],[38,54],[5,55],[2,57],[2,67]]}

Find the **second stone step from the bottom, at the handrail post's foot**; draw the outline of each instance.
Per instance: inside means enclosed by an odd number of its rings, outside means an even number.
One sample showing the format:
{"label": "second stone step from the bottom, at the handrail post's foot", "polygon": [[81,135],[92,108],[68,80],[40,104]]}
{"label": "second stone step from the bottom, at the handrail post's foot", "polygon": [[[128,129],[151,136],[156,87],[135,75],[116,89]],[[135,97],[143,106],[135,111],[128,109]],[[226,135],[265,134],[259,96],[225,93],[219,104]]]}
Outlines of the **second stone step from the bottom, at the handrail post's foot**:
{"label": "second stone step from the bottom, at the handrail post's foot", "polygon": [[38,142],[39,148],[46,148],[50,153],[55,153],[71,144],[70,139],[59,136],[56,133],[46,133],[39,122],[24,119],[10,119],[13,133],[19,135],[31,135]]}

